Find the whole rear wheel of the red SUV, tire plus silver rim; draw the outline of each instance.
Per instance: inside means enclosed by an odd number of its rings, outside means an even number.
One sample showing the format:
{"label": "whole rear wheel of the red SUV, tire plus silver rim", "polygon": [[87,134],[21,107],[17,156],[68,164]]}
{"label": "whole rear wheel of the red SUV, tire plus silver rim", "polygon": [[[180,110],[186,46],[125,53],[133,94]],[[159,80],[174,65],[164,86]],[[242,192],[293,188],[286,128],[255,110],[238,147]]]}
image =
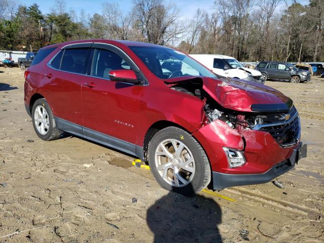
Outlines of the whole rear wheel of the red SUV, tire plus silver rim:
{"label": "whole rear wheel of the red SUV, tire plus silver rim", "polygon": [[53,111],[46,99],[43,98],[35,101],[32,106],[31,118],[32,125],[39,138],[50,141],[58,139],[62,134],[62,131],[56,127]]}

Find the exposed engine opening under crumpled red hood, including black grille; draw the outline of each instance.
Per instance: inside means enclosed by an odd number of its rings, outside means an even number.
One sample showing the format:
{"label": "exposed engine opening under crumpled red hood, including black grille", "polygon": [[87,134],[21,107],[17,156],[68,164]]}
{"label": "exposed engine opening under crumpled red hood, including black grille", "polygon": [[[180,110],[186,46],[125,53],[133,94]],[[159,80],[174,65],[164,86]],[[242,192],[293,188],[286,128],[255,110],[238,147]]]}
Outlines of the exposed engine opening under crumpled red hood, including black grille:
{"label": "exposed engine opening under crumpled red hood, including black grille", "polygon": [[[298,126],[299,118],[296,116],[297,110],[293,106],[289,112],[242,112],[226,109],[215,101],[203,88],[203,83],[199,79],[185,80],[181,83],[169,86],[171,89],[195,96],[204,102],[206,118],[203,122],[207,125],[214,120],[221,120],[230,128],[236,129],[238,133],[242,130],[261,130],[269,132],[279,144],[286,146],[297,142],[299,138]],[[288,120],[291,116],[296,116],[290,124],[281,126],[282,121]],[[271,125],[258,126],[257,125]],[[273,125],[273,126],[272,126]]]}

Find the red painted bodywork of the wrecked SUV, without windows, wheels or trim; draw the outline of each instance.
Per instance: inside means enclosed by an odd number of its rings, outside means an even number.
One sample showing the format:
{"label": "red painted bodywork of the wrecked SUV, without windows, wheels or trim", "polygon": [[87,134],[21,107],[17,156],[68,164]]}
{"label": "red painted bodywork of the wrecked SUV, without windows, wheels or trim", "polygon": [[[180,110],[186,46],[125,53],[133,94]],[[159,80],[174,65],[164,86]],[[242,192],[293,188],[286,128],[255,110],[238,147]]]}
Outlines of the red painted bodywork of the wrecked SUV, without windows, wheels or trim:
{"label": "red painted bodywork of the wrecked SUV, without windows, wheels or trim", "polygon": [[[64,46],[88,42],[113,45],[125,52],[145,75],[149,85],[107,82],[97,77],[54,70],[46,65]],[[145,135],[151,126],[160,121],[170,121],[198,140],[207,153],[212,171],[226,174],[264,173],[289,158],[298,146],[281,147],[267,132],[243,130],[239,133],[221,120],[206,125],[204,102],[170,89],[174,84],[197,77],[160,79],[130,46],[149,44],[94,39],[50,46],[57,49],[26,71],[25,105],[31,105],[33,95],[41,95],[47,99],[56,117],[140,147],[144,146]],[[119,71],[110,74],[118,76]],[[128,77],[136,78],[132,72]],[[204,90],[224,108],[251,112],[252,104],[285,104],[289,101],[282,93],[261,84],[198,78],[203,80]],[[223,146],[244,150],[247,163],[229,168]]]}

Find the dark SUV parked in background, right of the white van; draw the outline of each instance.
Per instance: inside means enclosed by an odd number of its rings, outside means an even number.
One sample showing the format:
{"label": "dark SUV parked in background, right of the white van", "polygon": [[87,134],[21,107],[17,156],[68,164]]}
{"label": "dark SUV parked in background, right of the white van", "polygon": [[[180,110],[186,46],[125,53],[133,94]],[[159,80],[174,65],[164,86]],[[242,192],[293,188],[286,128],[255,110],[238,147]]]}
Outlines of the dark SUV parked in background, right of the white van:
{"label": "dark SUV parked in background, right of the white van", "polygon": [[311,78],[310,72],[300,70],[294,65],[285,62],[262,61],[257,67],[261,72],[261,80],[289,80],[291,83],[308,82]]}

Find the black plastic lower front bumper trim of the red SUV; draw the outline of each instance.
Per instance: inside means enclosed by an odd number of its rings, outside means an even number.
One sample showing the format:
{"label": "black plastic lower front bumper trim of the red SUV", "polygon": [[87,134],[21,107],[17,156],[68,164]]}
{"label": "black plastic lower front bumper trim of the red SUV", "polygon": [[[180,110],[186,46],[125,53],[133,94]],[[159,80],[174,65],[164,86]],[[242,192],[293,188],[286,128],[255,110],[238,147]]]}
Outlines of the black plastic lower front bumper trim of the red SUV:
{"label": "black plastic lower front bumper trim of the red SUV", "polygon": [[272,179],[290,171],[298,163],[299,159],[306,157],[307,144],[299,143],[294,148],[292,155],[276,164],[265,173],[261,174],[225,174],[213,171],[213,189],[221,190],[231,186],[254,185],[267,183]]}

